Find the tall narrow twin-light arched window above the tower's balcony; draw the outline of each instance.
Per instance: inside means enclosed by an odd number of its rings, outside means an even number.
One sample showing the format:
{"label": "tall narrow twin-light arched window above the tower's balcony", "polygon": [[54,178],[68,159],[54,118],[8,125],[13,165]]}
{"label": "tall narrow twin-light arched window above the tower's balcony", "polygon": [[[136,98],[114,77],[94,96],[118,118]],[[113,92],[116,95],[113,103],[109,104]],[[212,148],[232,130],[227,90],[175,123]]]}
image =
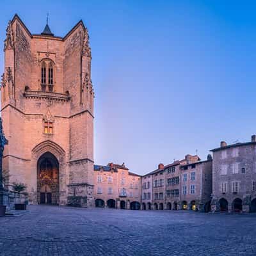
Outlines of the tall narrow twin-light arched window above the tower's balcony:
{"label": "tall narrow twin-light arched window above the tower's balcony", "polygon": [[[48,70],[48,72],[47,72]],[[54,63],[51,60],[42,61],[41,65],[41,91],[53,92]]]}

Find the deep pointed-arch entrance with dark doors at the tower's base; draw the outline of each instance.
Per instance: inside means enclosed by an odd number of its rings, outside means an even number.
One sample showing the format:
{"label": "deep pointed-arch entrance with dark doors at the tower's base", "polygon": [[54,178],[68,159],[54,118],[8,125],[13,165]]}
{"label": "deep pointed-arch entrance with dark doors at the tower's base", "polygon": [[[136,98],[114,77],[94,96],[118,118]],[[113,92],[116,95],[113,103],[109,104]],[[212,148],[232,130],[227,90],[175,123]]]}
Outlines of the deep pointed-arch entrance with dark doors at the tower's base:
{"label": "deep pointed-arch entrance with dark doors at the tower's base", "polygon": [[37,161],[36,184],[38,204],[59,204],[59,163],[50,152],[44,153]]}

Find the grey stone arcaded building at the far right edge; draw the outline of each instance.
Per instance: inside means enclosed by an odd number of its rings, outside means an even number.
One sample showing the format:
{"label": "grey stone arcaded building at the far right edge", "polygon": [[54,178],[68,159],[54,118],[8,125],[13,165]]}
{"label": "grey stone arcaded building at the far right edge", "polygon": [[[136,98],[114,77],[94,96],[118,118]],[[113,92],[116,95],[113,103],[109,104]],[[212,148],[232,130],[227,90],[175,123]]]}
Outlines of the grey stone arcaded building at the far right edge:
{"label": "grey stone arcaded building at the far right edge", "polygon": [[256,212],[256,136],[212,151],[212,211]]}

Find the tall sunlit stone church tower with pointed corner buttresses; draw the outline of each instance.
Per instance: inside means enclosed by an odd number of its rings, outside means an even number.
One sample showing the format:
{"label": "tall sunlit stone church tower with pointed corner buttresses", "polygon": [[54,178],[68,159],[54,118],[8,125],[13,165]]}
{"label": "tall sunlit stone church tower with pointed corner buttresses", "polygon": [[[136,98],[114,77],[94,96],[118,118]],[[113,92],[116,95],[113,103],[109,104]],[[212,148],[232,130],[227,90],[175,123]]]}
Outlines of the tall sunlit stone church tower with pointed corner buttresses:
{"label": "tall sunlit stone church tower with pointed corner buttresses", "polygon": [[32,35],[15,15],[6,29],[1,115],[10,184],[35,204],[92,206],[93,86],[88,30]]}

